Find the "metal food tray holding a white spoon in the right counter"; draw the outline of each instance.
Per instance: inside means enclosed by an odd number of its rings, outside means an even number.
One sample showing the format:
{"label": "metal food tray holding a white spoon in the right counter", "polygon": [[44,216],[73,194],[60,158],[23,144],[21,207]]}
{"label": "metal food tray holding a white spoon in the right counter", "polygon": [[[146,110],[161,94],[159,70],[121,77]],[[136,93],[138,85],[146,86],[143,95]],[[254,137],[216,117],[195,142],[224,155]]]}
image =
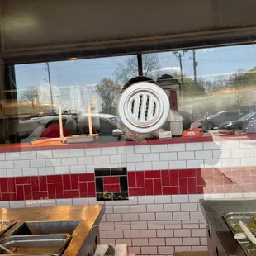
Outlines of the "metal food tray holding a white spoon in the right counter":
{"label": "metal food tray holding a white spoon in the right counter", "polygon": [[[230,212],[223,217],[230,227],[230,230],[235,235],[236,233],[242,232],[238,224],[239,220],[247,224],[253,217],[256,217],[256,212]],[[256,245],[252,244],[249,239],[241,239],[238,240],[238,242],[247,256],[256,256]]]}

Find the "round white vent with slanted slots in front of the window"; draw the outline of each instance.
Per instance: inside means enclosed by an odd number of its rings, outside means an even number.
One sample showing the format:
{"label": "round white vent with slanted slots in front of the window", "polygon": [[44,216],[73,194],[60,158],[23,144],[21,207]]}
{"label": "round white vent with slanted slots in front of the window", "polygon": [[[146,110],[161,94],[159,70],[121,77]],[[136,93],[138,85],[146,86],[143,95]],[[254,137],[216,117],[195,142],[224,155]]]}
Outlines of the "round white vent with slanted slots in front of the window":
{"label": "round white vent with slanted slots in front of the window", "polygon": [[118,113],[121,124],[138,133],[161,128],[168,118],[169,100],[162,88],[149,82],[138,82],[122,92]]}

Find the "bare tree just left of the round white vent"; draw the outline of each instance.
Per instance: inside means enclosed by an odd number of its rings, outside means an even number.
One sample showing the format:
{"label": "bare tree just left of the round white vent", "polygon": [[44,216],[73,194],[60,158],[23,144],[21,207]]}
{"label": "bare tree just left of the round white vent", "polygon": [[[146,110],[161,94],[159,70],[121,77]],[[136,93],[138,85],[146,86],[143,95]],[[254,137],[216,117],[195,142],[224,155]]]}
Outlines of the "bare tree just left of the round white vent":
{"label": "bare tree just left of the round white vent", "polygon": [[121,93],[121,86],[110,78],[102,78],[96,85],[96,92],[102,98],[102,112],[116,114],[116,102]]}

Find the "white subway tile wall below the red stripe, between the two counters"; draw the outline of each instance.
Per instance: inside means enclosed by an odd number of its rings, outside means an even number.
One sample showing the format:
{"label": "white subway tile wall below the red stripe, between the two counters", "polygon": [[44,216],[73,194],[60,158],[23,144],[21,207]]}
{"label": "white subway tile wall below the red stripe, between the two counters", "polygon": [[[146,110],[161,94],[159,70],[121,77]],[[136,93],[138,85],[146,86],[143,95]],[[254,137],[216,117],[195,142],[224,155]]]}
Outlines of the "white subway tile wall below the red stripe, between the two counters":
{"label": "white subway tile wall below the red stripe, between the two counters", "polygon": [[206,249],[205,220],[198,210],[201,198],[204,196],[131,197],[126,205],[106,205],[101,243],[109,239],[116,244],[126,242],[130,252],[151,256]]}

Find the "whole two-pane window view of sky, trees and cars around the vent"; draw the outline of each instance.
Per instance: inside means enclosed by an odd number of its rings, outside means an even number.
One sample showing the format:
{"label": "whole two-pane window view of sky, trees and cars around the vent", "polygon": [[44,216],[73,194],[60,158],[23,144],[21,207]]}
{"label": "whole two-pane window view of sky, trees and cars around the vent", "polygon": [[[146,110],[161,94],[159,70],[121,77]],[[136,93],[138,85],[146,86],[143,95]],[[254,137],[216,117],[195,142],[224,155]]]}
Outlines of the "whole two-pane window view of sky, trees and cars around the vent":
{"label": "whole two-pane window view of sky, trees and cars around the vent", "polygon": [[[142,55],[143,75],[156,81],[163,75],[178,81],[171,107],[191,121],[223,111],[255,110],[256,64],[254,45],[235,45],[200,50],[165,51]],[[28,142],[58,136],[58,109],[63,111],[64,135],[88,133],[88,107],[92,129],[99,141],[116,141],[116,104],[130,78],[138,76],[136,55],[98,59],[71,59],[38,64],[15,65],[17,100],[3,107],[7,128],[3,143]],[[162,80],[163,82],[163,80]],[[223,117],[223,118],[222,118]],[[222,116],[216,124],[243,116]],[[243,119],[243,120],[244,120]]]}

